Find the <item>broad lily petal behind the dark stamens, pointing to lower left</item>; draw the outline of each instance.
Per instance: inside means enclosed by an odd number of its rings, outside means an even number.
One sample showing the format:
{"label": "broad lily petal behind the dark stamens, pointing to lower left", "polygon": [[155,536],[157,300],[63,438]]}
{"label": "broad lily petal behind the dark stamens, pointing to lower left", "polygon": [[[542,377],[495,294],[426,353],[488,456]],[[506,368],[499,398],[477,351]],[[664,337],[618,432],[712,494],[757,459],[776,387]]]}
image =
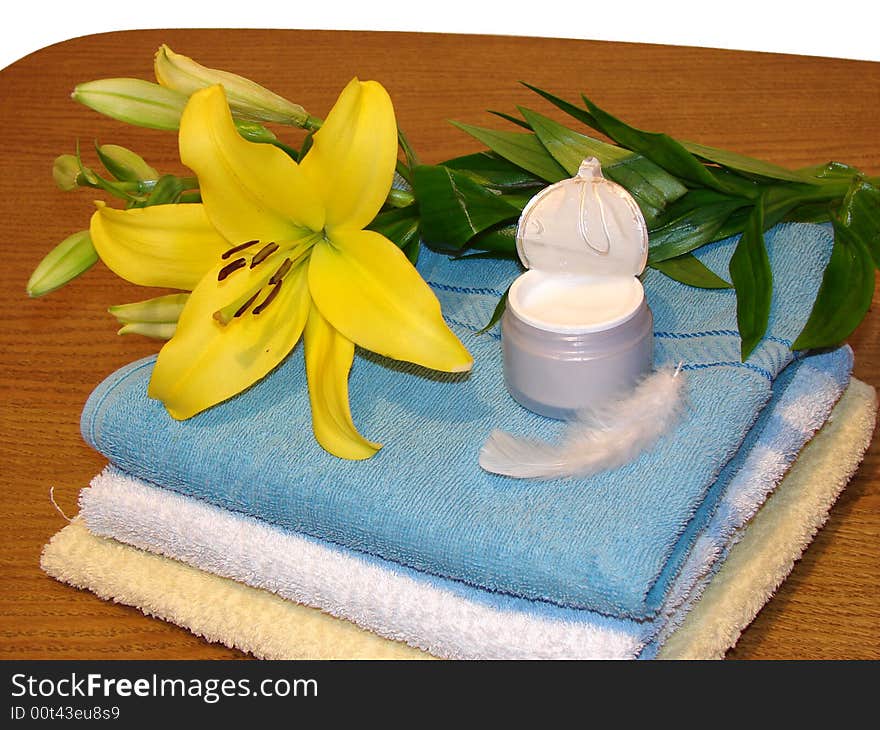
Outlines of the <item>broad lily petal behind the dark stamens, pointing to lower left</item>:
{"label": "broad lily petal behind the dark stamens, pointing to lower left", "polygon": [[[283,258],[275,254],[221,282],[217,281],[221,267],[214,267],[190,295],[174,337],[159,353],[148,390],[174,418],[189,418],[240,393],[293,349],[311,303],[305,266],[288,273],[275,300],[260,314],[246,312],[227,325],[213,318],[230,302],[247,299]],[[269,289],[263,291],[256,304]]]}

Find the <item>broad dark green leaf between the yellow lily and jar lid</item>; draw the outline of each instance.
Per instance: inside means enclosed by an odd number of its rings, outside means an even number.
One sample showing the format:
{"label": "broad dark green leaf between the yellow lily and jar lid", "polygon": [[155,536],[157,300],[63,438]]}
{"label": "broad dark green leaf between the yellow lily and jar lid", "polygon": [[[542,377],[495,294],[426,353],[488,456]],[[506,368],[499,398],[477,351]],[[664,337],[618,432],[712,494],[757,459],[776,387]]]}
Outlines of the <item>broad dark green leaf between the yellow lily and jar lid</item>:
{"label": "broad dark green leaf between the yellow lily and jar lid", "polygon": [[425,243],[462,249],[477,233],[519,218],[519,209],[460,172],[441,165],[413,170]]}

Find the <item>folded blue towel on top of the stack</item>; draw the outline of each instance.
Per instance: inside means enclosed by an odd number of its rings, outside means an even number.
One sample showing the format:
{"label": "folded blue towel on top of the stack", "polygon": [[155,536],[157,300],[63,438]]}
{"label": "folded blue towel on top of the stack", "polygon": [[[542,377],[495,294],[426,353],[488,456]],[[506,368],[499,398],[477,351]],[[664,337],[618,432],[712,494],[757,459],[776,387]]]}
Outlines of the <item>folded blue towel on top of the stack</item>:
{"label": "folded blue towel on top of the stack", "polygon": [[[474,334],[516,266],[427,252],[420,271],[476,365],[438,375],[362,353],[351,402],[361,431],[386,444],[373,459],[341,461],[314,443],[300,348],[246,393],[185,422],[147,398],[152,360],[134,363],[95,390],[82,431],[136,477],[295,532],[490,591],[652,617],[793,358],[832,243],[829,228],[803,224],[767,239],[777,295],[768,337],[747,363],[732,291],[646,274],[655,360],[685,363],[689,411],[656,448],[587,480],[520,482],[479,469],[492,428],[552,439],[560,424],[512,401],[498,332]],[[707,247],[703,262],[723,274],[734,243]]]}

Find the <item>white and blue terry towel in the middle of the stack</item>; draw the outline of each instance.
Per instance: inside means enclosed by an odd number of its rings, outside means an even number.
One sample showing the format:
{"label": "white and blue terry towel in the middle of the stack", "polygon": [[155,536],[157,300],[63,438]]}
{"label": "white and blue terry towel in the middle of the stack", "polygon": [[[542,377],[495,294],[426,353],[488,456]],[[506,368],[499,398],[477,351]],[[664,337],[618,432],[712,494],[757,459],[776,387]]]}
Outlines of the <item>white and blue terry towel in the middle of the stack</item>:
{"label": "white and blue terry towel in the middle of the stack", "polygon": [[303,538],[109,468],[81,493],[95,534],[317,606],[384,636],[449,658],[651,656],[711,577],[719,556],[803,444],[825,422],[848,379],[850,351],[799,361],[747,438],[742,468],[673,583],[655,620],[501,596]]}

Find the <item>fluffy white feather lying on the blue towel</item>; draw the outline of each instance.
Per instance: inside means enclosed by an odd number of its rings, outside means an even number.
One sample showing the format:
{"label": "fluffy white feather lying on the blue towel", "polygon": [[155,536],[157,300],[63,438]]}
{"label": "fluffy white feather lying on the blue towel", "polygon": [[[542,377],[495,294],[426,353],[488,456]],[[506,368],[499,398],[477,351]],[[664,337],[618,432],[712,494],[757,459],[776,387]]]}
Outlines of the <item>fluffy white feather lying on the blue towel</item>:
{"label": "fluffy white feather lying on the blue towel", "polygon": [[480,449],[480,466],[520,479],[562,479],[628,464],[678,422],[684,379],[680,366],[658,370],[628,396],[580,413],[558,444],[495,430]]}

